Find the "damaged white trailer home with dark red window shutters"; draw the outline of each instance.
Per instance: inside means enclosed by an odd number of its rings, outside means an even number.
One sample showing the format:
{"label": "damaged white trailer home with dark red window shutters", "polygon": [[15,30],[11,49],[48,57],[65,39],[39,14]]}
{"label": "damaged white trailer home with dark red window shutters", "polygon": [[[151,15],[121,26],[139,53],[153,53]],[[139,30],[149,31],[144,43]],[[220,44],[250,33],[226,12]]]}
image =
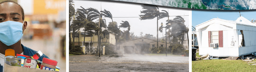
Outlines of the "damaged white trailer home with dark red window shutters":
{"label": "damaged white trailer home with dark red window shutters", "polygon": [[244,17],[236,21],[213,18],[195,27],[199,55],[243,59],[256,51],[256,25]]}

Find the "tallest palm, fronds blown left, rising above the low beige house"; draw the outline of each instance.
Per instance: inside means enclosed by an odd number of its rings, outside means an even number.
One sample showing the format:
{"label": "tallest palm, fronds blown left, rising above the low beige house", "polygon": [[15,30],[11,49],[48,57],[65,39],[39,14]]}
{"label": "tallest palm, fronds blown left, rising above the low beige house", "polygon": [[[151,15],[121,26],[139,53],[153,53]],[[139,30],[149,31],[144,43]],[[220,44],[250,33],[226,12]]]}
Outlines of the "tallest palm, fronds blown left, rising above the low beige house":
{"label": "tallest palm, fronds blown left, rising above the low beige house", "polygon": [[141,15],[139,19],[141,20],[147,20],[147,19],[154,19],[155,17],[157,17],[157,37],[156,37],[156,40],[157,40],[157,47],[158,47],[158,20],[159,20],[159,16],[160,16],[160,12],[159,12],[159,8],[156,6],[156,5],[150,5],[150,4],[144,4],[144,5],[141,5],[142,9],[145,9],[143,11],[141,11]]}

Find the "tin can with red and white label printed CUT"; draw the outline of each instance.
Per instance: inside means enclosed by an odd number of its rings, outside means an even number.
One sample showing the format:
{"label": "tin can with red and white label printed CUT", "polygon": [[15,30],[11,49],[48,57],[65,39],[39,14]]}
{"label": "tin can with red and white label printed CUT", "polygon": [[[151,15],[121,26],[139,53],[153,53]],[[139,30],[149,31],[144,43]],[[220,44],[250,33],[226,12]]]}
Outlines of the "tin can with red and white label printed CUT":
{"label": "tin can with red and white label printed CUT", "polygon": [[31,59],[31,58],[24,59],[23,67],[36,69],[36,66],[37,66],[37,61],[35,59]]}

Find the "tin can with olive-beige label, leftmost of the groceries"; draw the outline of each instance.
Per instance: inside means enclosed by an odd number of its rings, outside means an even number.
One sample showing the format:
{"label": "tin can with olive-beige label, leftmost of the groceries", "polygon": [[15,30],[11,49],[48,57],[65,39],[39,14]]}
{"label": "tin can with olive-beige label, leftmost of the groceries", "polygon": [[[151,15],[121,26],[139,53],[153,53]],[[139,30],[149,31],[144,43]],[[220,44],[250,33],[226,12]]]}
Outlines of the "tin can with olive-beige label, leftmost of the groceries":
{"label": "tin can with olive-beige label, leftmost of the groceries", "polygon": [[11,66],[20,66],[21,67],[21,58],[6,58],[6,64]]}

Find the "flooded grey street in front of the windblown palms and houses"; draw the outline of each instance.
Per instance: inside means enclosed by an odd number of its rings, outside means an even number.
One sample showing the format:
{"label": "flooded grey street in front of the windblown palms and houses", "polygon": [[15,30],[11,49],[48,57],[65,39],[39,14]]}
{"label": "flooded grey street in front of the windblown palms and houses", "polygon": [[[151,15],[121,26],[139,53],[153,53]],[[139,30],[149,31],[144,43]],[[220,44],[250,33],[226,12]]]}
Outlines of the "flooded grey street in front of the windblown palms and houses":
{"label": "flooded grey street in front of the windblown palms and houses", "polygon": [[70,72],[188,72],[189,58],[165,55],[74,55],[69,56]]}

